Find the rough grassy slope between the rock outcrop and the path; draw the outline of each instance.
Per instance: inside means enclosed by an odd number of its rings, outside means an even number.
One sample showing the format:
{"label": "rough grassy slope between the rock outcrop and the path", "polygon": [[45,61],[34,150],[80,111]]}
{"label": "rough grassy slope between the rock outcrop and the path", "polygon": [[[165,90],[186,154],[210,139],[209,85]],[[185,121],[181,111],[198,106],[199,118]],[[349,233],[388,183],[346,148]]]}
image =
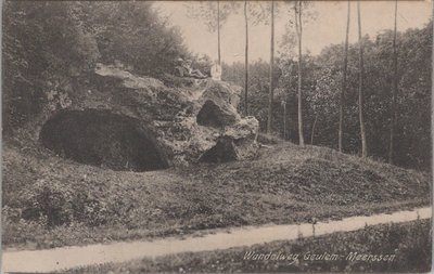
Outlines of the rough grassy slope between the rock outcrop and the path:
{"label": "rough grassy slope between the rock outcrop and the path", "polygon": [[430,177],[291,143],[257,159],[152,172],[3,147],[2,243],[40,249],[340,219],[430,205]]}

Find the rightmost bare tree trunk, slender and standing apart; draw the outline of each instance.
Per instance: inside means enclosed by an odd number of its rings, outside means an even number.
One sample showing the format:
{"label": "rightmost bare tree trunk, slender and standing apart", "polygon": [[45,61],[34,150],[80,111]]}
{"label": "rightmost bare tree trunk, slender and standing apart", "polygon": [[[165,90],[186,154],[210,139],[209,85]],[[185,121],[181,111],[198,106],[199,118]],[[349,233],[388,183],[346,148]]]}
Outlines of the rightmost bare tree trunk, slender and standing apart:
{"label": "rightmost bare tree trunk, slender and standing apart", "polygon": [[398,1],[395,0],[395,26],[394,26],[394,39],[393,39],[393,68],[394,68],[394,81],[393,81],[393,93],[392,93],[392,109],[391,109],[391,141],[388,144],[388,162],[394,162],[394,139],[396,128],[396,100],[398,95],[398,53],[396,51],[396,15],[398,13]]}

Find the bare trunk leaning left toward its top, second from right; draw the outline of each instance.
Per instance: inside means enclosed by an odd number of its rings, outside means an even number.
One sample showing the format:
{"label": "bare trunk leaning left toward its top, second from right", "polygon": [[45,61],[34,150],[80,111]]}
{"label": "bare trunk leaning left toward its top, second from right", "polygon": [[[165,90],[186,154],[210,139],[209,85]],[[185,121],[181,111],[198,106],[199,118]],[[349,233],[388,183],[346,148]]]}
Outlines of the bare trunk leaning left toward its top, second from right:
{"label": "bare trunk leaning left toward its top, second from right", "polygon": [[368,156],[366,128],[363,117],[363,42],[361,41],[361,18],[360,18],[360,0],[357,1],[357,17],[359,28],[359,120],[360,120],[360,135],[361,135],[361,157]]}

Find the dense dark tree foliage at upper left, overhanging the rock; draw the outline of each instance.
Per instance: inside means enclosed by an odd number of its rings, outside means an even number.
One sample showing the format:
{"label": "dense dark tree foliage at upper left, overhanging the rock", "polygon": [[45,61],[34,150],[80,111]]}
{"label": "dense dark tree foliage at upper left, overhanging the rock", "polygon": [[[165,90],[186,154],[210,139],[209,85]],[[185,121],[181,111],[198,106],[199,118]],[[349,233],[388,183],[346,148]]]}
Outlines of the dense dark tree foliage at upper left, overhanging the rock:
{"label": "dense dark tree foliage at upper left, overhanging the rock", "polygon": [[163,77],[189,56],[177,28],[151,2],[7,1],[3,6],[3,126],[7,134],[64,108],[97,62]]}

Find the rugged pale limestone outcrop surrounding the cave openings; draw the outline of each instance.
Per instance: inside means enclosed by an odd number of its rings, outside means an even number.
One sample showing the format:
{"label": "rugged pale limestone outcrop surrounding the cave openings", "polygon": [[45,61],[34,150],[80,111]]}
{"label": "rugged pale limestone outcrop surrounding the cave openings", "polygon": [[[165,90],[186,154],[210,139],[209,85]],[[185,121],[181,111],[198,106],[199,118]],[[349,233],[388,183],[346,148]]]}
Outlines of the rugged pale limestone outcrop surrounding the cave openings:
{"label": "rugged pale limestone outcrop surrounding the cave openings", "polygon": [[[49,129],[55,132],[58,129],[53,120],[61,125],[65,122],[61,118],[68,117],[67,122],[74,125],[75,121],[71,119],[84,117],[77,115],[77,112],[86,112],[99,117],[92,120],[92,127],[98,129],[99,133],[88,135],[102,140],[85,142],[89,136],[79,136],[81,130],[76,130],[73,134],[66,133],[55,139],[58,143],[51,146],[61,147],[61,152],[71,149],[65,144],[71,145],[74,142],[64,139],[73,135],[81,140],[79,145],[82,149],[86,149],[82,146],[87,143],[105,142],[104,147],[106,148],[99,149],[98,153],[94,153],[95,155],[92,155],[97,159],[107,158],[97,154],[116,149],[128,149],[129,153],[125,155],[135,156],[135,158],[126,156],[127,158],[119,159],[122,165],[118,166],[136,167],[141,162],[146,162],[145,153],[136,154],[133,152],[152,145],[154,148],[151,151],[168,166],[183,166],[197,161],[239,160],[252,157],[256,153],[256,136],[259,126],[254,117],[242,118],[238,114],[240,87],[206,79],[192,87],[168,88],[159,80],[139,77],[114,66],[100,64],[95,68],[94,75],[90,75],[85,81],[75,83],[73,89],[74,92],[69,94],[72,103],[63,109],[53,112],[46,120],[46,125],[50,125]],[[74,115],[65,115],[67,112],[74,112]],[[117,126],[95,125],[95,121],[103,121],[104,119],[101,117],[108,114],[111,117],[115,115]],[[123,116],[128,117],[128,127],[118,125],[118,121],[123,120],[120,118]],[[106,121],[104,122],[106,123]],[[129,139],[126,139],[125,132],[113,133],[113,131],[116,129],[125,131],[126,128],[128,131],[140,132],[135,135],[133,144],[140,144],[142,136],[146,145],[131,147],[122,144],[123,140],[132,140],[131,134],[128,135]],[[65,127],[62,129],[67,130]],[[105,129],[111,131],[104,132]],[[86,128],[86,132],[92,131]],[[113,138],[111,138],[112,135]],[[114,145],[117,147],[111,146],[111,140],[116,140]],[[74,145],[76,144],[74,143]],[[137,158],[141,161],[135,161]],[[116,161],[117,159],[112,160],[112,165],[115,165]],[[86,159],[84,162],[86,164]],[[140,169],[150,170],[146,167],[140,167]]]}

